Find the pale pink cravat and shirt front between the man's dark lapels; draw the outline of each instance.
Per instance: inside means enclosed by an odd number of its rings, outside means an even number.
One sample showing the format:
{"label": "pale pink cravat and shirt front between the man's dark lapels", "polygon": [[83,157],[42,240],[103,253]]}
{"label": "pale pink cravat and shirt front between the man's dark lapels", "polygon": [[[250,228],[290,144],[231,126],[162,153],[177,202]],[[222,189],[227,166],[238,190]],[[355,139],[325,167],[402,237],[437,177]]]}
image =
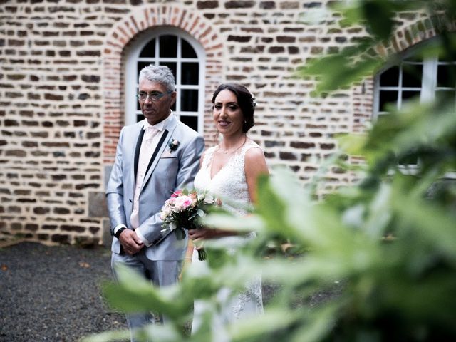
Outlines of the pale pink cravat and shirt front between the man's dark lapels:
{"label": "pale pink cravat and shirt front between the man's dark lapels", "polygon": [[144,137],[142,138],[140,157],[138,160],[138,171],[136,172],[136,184],[135,184],[135,195],[133,196],[133,212],[130,216],[130,223],[133,229],[139,227],[139,198],[142,181],[145,177],[147,165],[149,165],[152,153],[157,147],[157,142],[154,143],[155,136],[160,133],[157,128],[148,126],[145,129]]}

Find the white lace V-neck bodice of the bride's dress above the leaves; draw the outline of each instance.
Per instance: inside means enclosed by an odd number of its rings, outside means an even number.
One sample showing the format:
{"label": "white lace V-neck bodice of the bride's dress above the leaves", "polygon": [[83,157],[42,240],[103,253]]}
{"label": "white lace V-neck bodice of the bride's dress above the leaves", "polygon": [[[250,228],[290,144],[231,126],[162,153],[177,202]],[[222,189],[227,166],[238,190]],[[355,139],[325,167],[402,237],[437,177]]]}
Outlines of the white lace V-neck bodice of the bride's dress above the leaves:
{"label": "white lace V-neck bodice of the bride's dress above the leaves", "polygon": [[195,188],[206,190],[209,194],[222,199],[222,206],[228,211],[244,214],[250,204],[249,188],[244,172],[245,154],[251,148],[260,147],[252,140],[248,140],[211,178],[212,160],[218,148],[218,146],[210,147],[204,154],[201,169],[195,177]]}

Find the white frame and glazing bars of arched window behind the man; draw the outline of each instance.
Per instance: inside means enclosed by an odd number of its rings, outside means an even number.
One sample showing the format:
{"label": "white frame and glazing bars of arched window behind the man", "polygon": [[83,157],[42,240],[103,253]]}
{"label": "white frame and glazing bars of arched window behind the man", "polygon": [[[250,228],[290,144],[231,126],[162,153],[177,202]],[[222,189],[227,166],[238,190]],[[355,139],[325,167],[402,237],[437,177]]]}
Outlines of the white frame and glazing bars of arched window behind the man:
{"label": "white frame and glazing bars of arched window behind the man", "polygon": [[[177,57],[164,58],[160,57],[160,46],[158,45],[158,40],[155,41],[155,57],[150,58],[140,58],[140,52],[147,43],[152,41],[152,39],[159,36],[177,36]],[[190,43],[190,46],[195,50],[197,58],[182,58],[180,53],[181,48],[181,38],[185,39],[187,43]],[[174,111],[177,118],[180,118],[180,115],[185,116],[195,116],[198,118],[198,133],[204,135],[204,90],[205,90],[205,66],[206,66],[206,53],[201,44],[189,33],[180,30],[179,28],[169,27],[169,26],[160,26],[155,27],[150,30],[144,31],[135,38],[135,41],[132,43],[125,55],[125,125],[132,125],[136,123],[136,115],[140,113],[137,108],[136,93],[138,89],[138,62],[147,62],[159,65],[160,62],[173,62],[177,65],[176,70],[176,110]],[[182,63],[192,62],[199,64],[199,84],[198,85],[182,85],[181,84],[181,66]],[[195,89],[198,90],[198,111],[197,112],[182,112],[179,109],[180,105],[180,90],[182,89]]]}

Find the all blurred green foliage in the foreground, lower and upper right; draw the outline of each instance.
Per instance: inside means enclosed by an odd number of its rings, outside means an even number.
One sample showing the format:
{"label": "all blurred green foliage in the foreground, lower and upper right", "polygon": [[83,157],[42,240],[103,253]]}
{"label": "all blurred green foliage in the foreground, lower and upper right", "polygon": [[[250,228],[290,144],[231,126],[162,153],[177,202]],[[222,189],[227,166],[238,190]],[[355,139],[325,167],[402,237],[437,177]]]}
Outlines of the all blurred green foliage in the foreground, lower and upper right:
{"label": "all blurred green foliage in the foreground, lower and upper right", "polygon": [[[343,24],[365,25],[372,37],[315,60],[302,72],[318,76],[318,93],[371,76],[391,60],[372,51],[394,30],[395,13],[424,6],[434,18],[437,5],[456,8],[450,0],[360,0],[348,9],[338,7]],[[442,31],[430,51],[455,56],[455,46]],[[353,167],[339,161],[358,172],[360,182],[321,202],[313,200],[313,185],[302,187],[289,172],[274,170],[259,180],[259,202],[251,215],[239,219],[216,212],[204,219],[220,229],[255,231],[257,239],[236,254],[207,242],[209,271],[192,265],[179,285],[160,291],[119,269],[119,283],[105,289],[110,304],[170,317],[172,323],[148,327],[143,337],[219,341],[222,331],[211,327],[222,305],[220,289],[236,294],[261,270],[264,284],[274,284],[274,296],[264,315],[224,327],[227,341],[455,340],[456,183],[448,177],[456,170],[454,101],[453,93],[435,103],[408,103],[390,110],[368,134],[340,137],[341,155],[359,155],[366,163]],[[404,160],[418,164],[410,167]],[[207,304],[207,314],[202,328],[189,336],[182,326],[192,317],[195,299]],[[87,341],[122,337],[108,333]]]}

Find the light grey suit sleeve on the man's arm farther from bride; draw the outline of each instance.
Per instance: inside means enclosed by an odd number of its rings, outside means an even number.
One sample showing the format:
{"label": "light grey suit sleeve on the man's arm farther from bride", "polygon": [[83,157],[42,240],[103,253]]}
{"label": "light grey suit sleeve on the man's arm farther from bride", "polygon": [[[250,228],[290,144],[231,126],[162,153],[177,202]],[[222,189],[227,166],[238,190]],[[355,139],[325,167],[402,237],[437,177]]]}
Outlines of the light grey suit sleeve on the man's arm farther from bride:
{"label": "light grey suit sleeve on the man's arm farther from bride", "polygon": [[108,187],[106,188],[106,204],[108,206],[111,234],[113,234],[113,229],[119,224],[127,224],[123,207],[122,142],[123,129],[120,131],[119,141],[115,151],[115,162],[109,177]]}

